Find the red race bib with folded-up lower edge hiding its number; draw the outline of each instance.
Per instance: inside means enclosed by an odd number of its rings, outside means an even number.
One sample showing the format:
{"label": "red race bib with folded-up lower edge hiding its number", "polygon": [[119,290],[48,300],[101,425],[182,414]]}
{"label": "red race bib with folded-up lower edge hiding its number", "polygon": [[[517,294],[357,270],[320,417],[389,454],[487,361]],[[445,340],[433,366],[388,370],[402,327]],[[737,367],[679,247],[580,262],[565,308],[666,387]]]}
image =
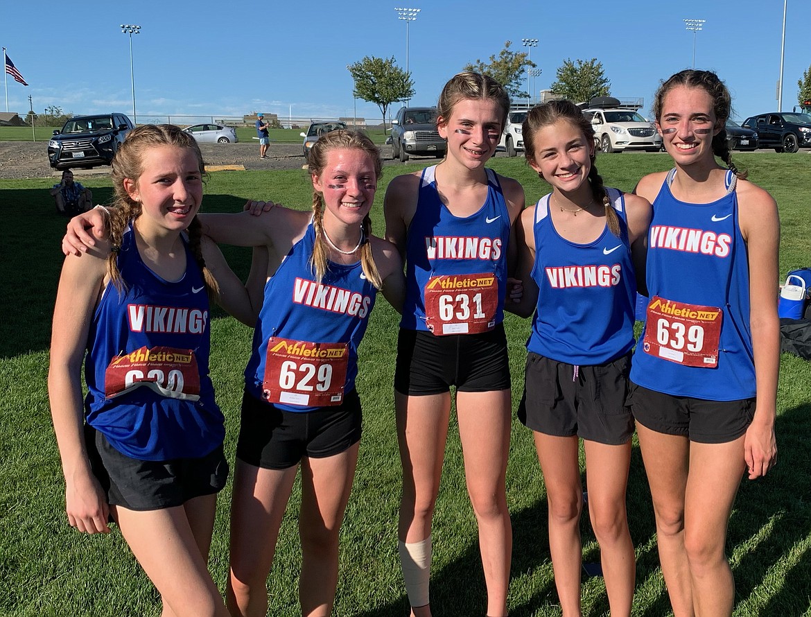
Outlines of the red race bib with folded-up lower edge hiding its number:
{"label": "red race bib with folded-up lower edge hiding its number", "polygon": [[110,361],[104,378],[106,398],[115,398],[142,386],[169,398],[199,400],[200,372],[194,351],[141,347]]}

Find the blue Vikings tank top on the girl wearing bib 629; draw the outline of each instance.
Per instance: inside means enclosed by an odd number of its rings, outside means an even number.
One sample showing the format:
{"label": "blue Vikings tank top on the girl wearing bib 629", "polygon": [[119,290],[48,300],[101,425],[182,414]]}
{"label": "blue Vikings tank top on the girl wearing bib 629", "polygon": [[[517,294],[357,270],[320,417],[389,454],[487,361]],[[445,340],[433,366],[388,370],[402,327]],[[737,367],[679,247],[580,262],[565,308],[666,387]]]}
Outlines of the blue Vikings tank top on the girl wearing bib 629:
{"label": "blue Vikings tank top on the girl wearing bib 629", "polygon": [[[343,392],[354,390],[358,375],[358,345],[366,332],[371,309],[375,306],[375,286],[363,274],[358,261],[343,265],[329,262],[324,279],[315,281],[315,272],[309,263],[315,243],[315,228],[307,226],[304,237],[295,243],[290,253],[282,260],[276,273],[264,287],[264,302],[256,323],[251,360],[245,369],[247,392],[260,400],[267,400],[264,381],[270,353],[290,353],[290,358],[281,360],[281,382],[290,381],[314,394],[324,387],[328,379],[317,369],[308,374],[308,353],[314,353],[313,345],[295,345],[285,341],[303,341],[317,344],[347,345]],[[281,347],[280,347],[281,346]],[[269,348],[269,349],[268,349]],[[293,362],[288,364],[285,362]],[[332,383],[330,383],[332,385]],[[340,388],[341,384],[338,384]],[[293,412],[322,409],[323,405],[274,403],[278,408]]]}

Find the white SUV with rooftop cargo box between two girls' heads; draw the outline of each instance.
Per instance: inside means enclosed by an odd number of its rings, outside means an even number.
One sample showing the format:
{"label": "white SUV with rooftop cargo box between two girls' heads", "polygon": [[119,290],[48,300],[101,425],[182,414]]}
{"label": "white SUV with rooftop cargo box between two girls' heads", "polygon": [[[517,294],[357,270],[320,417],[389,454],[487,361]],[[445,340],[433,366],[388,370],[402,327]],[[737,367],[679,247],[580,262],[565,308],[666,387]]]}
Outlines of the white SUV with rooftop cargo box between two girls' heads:
{"label": "white SUV with rooftop cargo box between two girls' heads", "polygon": [[585,109],[583,115],[594,127],[594,142],[600,152],[659,152],[662,148],[656,126],[633,109]]}

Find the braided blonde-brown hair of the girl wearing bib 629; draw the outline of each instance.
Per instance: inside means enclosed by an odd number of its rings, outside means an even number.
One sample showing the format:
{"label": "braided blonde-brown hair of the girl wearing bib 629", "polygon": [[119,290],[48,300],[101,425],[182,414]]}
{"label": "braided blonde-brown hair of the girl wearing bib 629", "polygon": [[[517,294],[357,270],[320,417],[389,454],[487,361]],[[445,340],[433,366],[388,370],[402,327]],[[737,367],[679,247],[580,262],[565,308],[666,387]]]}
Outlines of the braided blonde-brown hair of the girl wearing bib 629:
{"label": "braided blonde-brown hair of the girl wearing bib 629", "polygon": [[[333,150],[356,149],[365,152],[374,164],[375,179],[380,180],[383,175],[383,161],[380,159],[380,150],[363,133],[358,131],[332,131],[323,135],[313,144],[308,161],[308,172],[315,176],[320,176],[327,166],[327,154]],[[312,191],[312,213],[313,226],[315,227],[315,244],[313,245],[310,265],[315,272],[317,281],[324,278],[329,263],[329,248],[324,241],[324,195],[319,191]],[[375,258],[371,251],[371,218],[367,214],[361,223],[361,234],[363,236],[360,247],[360,263],[363,274],[367,280],[375,285],[376,289],[383,287],[383,280],[377,270]]]}

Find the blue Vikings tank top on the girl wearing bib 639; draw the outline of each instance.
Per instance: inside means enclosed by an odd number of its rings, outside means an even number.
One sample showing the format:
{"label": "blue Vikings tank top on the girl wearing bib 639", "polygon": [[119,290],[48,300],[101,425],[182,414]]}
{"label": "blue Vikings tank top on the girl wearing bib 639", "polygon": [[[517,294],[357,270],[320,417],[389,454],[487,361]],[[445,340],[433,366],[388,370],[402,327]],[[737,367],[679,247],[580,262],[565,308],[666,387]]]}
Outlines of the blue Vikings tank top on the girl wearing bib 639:
{"label": "blue Vikings tank top on the girl wearing bib 639", "polygon": [[684,366],[646,353],[649,328],[651,336],[660,331],[662,336],[674,336],[666,317],[649,323],[649,316],[634,353],[631,379],[672,396],[709,401],[750,398],[755,396],[755,371],[749,328],[749,263],[738,224],[736,178],[727,172],[727,194],[721,199],[689,204],[676,199],[670,190],[675,171],[668,174],[653,203],[648,292],[650,298],[721,310],[717,366]]}

